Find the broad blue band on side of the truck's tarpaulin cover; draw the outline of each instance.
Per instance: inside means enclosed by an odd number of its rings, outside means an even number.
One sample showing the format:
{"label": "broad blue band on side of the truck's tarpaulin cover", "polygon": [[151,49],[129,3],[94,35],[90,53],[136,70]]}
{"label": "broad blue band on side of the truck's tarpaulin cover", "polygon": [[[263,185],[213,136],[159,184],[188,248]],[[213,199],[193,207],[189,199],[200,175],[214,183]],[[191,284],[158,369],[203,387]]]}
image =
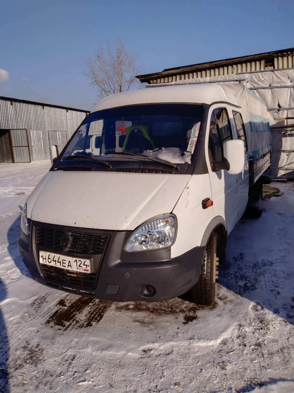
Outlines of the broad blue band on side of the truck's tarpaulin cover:
{"label": "broad blue band on side of the truck's tarpaulin cover", "polygon": [[249,122],[251,154],[258,161],[272,149],[269,119],[249,112]]}

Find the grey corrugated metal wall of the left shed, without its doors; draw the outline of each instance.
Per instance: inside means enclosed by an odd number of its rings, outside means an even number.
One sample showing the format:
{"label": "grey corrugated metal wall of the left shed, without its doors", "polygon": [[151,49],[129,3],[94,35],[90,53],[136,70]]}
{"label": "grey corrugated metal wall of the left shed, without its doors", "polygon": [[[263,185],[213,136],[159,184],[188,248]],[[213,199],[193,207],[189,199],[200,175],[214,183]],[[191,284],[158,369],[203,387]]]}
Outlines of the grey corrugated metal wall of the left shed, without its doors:
{"label": "grey corrugated metal wall of the left shed, without its doors", "polygon": [[[37,103],[0,99],[0,129],[27,129],[31,161],[49,159],[48,131],[62,131],[63,137],[59,138],[60,141],[58,139],[58,143],[60,142],[58,148],[61,151],[65,141],[71,138],[85,116],[85,112],[70,108],[47,107]],[[58,145],[58,143],[54,144]]]}

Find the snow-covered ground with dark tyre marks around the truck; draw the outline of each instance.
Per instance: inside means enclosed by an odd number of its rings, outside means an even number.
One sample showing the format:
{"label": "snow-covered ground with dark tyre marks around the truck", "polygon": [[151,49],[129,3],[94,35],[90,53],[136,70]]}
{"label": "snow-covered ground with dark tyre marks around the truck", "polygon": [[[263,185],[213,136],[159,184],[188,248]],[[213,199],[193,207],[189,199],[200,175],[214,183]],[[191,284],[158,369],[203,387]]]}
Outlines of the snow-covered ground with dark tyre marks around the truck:
{"label": "snow-covered ground with dark tyre marks around the truck", "polygon": [[112,303],[31,279],[18,254],[20,211],[47,161],[1,164],[1,392],[290,393],[293,183],[241,219],[216,303],[182,296]]}

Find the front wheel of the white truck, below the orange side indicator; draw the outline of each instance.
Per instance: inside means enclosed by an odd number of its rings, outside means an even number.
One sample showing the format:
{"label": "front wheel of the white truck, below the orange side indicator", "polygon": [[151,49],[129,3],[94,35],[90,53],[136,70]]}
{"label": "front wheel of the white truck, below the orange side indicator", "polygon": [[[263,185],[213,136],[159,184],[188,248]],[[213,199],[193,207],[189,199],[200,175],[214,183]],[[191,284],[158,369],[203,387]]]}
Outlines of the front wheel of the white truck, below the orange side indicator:
{"label": "front wheel of the white truck, below the orange side indicator", "polygon": [[214,301],[215,280],[218,278],[217,265],[216,235],[212,233],[205,249],[199,279],[190,291],[195,303],[211,305]]}

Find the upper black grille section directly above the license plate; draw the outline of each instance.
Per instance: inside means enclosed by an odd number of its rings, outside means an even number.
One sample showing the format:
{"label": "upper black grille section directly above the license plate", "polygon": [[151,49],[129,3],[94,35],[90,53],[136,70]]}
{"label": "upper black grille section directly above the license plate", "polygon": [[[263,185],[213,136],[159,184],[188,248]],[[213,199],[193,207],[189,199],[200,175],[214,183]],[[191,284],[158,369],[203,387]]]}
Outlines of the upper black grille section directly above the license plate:
{"label": "upper black grille section directly above the license plate", "polygon": [[69,232],[54,228],[36,226],[36,242],[42,250],[50,250],[62,253],[60,238],[62,235],[70,235],[73,239],[68,245],[68,251],[80,254],[102,254],[109,239],[108,235],[94,233]]}

